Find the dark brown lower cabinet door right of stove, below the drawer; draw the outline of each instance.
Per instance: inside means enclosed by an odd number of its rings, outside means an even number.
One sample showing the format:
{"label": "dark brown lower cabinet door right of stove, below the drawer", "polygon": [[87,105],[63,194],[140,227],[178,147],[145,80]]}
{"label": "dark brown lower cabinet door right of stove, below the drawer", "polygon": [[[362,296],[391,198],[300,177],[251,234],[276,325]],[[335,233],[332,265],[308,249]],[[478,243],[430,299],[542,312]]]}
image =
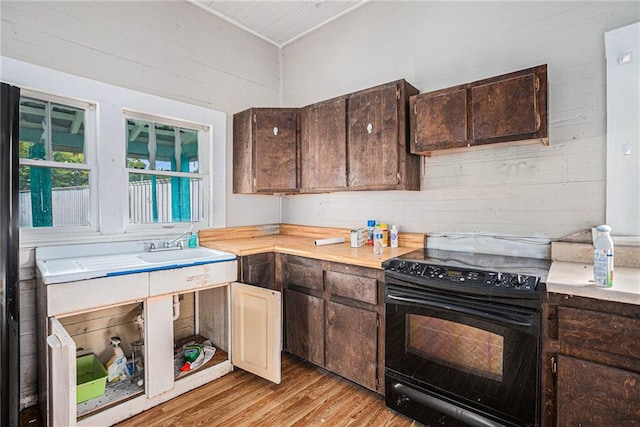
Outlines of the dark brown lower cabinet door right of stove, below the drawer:
{"label": "dark brown lower cabinet door right of stove, below the drawer", "polygon": [[638,425],[640,373],[558,355],[557,375],[557,425]]}

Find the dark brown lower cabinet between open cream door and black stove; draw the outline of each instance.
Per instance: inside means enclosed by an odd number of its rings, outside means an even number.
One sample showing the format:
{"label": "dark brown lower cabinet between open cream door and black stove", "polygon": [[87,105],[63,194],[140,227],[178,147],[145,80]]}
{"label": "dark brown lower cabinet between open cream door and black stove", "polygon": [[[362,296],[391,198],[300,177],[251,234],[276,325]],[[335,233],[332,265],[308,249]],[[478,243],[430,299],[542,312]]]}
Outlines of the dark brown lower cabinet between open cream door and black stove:
{"label": "dark brown lower cabinet between open cream door and black stove", "polygon": [[276,266],[285,350],[384,393],[383,271],[287,254]]}

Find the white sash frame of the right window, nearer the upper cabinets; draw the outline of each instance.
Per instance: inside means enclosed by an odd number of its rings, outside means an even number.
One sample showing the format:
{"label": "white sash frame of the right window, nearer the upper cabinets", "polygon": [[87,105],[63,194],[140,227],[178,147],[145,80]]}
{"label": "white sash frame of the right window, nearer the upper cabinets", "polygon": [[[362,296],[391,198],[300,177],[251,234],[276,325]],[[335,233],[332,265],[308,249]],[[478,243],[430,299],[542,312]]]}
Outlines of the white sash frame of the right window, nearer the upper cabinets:
{"label": "white sash frame of the right window, nearer the upper cabinets", "polygon": [[198,170],[199,172],[170,172],[170,171],[158,171],[151,169],[132,169],[126,168],[126,179],[123,189],[123,207],[129,208],[129,176],[132,173],[142,175],[155,175],[155,176],[167,176],[167,177],[183,177],[183,178],[199,178],[202,179],[202,220],[201,221],[180,221],[180,222],[162,222],[152,224],[138,224],[132,223],[129,217],[125,218],[126,230],[131,232],[145,232],[152,230],[166,230],[175,229],[179,231],[188,229],[201,229],[209,227],[210,216],[212,214],[212,199],[211,199],[211,164],[208,159],[211,158],[211,148],[213,146],[213,132],[209,125],[202,123],[195,123],[189,120],[176,119],[172,117],[162,116],[159,114],[151,114],[142,111],[136,111],[134,109],[125,108],[122,111],[122,123],[123,123],[123,155],[127,158],[127,119],[142,120],[152,125],[163,124],[180,128],[194,129],[198,131]]}

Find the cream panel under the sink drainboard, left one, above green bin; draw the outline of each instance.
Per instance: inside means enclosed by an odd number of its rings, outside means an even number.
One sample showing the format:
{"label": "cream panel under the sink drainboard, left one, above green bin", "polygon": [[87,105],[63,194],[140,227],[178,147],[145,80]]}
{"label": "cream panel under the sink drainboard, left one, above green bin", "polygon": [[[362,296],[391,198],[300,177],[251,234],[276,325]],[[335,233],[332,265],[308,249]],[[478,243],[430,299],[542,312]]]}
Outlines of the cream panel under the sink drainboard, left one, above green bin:
{"label": "cream panel under the sink drainboard, left one, above green bin", "polygon": [[57,316],[147,298],[149,273],[100,277],[46,286],[47,315]]}

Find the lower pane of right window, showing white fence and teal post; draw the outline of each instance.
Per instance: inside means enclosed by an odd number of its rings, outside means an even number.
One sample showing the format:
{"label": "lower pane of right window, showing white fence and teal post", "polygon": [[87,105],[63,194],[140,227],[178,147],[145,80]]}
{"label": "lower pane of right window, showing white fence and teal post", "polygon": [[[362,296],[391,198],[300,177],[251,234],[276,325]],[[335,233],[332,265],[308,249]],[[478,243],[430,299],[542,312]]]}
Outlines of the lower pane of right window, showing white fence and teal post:
{"label": "lower pane of right window, showing white fence and teal post", "polygon": [[203,180],[129,174],[129,222],[202,221]]}

